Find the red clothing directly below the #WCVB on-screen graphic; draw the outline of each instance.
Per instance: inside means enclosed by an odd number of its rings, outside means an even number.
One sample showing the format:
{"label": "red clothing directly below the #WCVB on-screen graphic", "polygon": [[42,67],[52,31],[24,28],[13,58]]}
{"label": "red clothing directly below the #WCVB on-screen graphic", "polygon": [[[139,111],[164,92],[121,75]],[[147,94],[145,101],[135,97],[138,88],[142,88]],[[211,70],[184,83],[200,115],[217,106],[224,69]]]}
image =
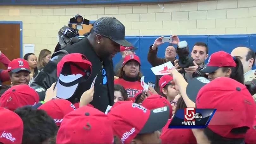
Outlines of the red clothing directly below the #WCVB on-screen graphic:
{"label": "red clothing directly below the #WCVB on-screen graphic", "polygon": [[197,143],[191,129],[168,129],[172,119],[169,119],[166,125],[162,128],[160,135],[162,143]]}

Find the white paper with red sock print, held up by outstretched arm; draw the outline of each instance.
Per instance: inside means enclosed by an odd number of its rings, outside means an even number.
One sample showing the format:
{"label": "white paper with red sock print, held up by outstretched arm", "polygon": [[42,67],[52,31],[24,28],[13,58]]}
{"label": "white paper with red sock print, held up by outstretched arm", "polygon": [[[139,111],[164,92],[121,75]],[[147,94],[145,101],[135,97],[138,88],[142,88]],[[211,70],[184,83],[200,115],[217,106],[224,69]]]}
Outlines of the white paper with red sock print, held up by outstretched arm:
{"label": "white paper with red sock print, held up by outstretched arm", "polygon": [[169,75],[168,70],[172,69],[173,64],[169,61],[167,63],[161,64],[159,66],[151,68],[155,75]]}

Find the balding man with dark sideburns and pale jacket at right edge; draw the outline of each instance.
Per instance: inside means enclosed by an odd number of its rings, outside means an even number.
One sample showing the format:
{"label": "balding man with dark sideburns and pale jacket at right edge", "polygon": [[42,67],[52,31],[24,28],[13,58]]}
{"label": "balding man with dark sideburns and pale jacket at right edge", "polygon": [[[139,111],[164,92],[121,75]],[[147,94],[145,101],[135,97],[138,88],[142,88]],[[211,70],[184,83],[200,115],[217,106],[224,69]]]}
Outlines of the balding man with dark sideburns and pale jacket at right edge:
{"label": "balding man with dark sideburns and pale jacket at right edge", "polygon": [[[244,70],[244,82],[252,81],[255,78],[252,71],[255,62],[255,53],[253,50],[247,47],[236,47],[230,54],[241,60]],[[253,95],[253,99],[256,103],[256,94]]]}

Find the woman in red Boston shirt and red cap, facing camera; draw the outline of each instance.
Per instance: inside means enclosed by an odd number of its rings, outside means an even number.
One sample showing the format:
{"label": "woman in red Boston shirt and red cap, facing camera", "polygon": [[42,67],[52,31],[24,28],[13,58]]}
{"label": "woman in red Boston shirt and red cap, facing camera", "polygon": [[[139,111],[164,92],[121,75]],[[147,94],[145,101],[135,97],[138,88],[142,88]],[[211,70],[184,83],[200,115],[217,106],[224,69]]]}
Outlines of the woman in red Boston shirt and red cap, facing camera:
{"label": "woman in red Boston shirt and red cap, facing camera", "polygon": [[129,101],[134,101],[134,95],[143,89],[140,83],[142,74],[140,72],[140,59],[136,55],[127,55],[124,58],[122,67],[118,70],[119,79],[114,80],[114,84],[122,85]]}

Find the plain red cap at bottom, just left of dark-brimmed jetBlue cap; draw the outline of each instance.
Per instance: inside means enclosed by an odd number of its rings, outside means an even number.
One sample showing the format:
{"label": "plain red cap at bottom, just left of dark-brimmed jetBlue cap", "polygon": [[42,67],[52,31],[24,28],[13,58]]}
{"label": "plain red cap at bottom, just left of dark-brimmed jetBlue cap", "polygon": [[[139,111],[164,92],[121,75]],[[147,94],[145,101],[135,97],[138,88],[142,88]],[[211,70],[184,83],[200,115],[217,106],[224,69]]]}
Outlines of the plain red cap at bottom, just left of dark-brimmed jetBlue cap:
{"label": "plain red cap at bottom, just left of dark-brimmed jetBlue cap", "polygon": [[83,106],[64,116],[56,143],[113,143],[109,117],[89,106]]}

